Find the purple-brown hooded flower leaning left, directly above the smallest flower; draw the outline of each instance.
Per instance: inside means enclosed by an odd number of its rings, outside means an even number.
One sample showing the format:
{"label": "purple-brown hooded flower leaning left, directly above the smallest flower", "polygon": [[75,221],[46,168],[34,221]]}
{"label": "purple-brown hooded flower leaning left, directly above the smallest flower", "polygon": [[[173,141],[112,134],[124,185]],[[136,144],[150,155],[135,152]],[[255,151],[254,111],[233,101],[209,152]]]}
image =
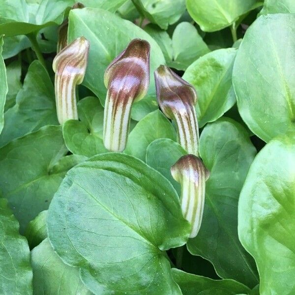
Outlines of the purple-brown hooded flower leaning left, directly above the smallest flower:
{"label": "purple-brown hooded flower leaning left, directly above the smallest flower", "polygon": [[166,117],[175,120],[179,144],[188,153],[199,155],[196,90],[165,65],[160,65],[154,75],[158,104]]}

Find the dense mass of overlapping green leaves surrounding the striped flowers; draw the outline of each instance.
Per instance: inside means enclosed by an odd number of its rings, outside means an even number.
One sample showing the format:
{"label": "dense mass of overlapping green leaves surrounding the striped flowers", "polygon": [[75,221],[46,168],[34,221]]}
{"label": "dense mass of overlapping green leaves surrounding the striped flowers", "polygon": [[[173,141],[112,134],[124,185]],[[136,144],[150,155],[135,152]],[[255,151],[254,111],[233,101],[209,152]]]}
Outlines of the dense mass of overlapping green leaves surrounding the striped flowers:
{"label": "dense mass of overlapping green leaves surrounding the striped flowers", "polygon": [[[0,0],[0,294],[295,294],[295,2],[81,2]],[[61,24],[89,41],[62,125]],[[105,70],[135,38],[150,77],[166,64],[197,92],[210,177],[194,238],[170,171],[188,151],[153,79],[124,151],[104,146]]]}

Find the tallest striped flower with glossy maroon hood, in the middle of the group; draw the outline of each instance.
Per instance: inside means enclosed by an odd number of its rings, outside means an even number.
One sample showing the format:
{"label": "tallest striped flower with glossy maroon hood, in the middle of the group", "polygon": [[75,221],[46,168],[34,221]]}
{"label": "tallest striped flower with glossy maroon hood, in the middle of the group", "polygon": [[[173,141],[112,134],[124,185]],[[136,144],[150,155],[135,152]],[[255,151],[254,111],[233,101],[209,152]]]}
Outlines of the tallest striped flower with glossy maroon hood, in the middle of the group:
{"label": "tallest striped flower with glossy maroon hood, in the middle of the group", "polygon": [[111,151],[126,147],[131,106],[142,99],[149,85],[149,43],[133,39],[105,71],[107,97],[104,109],[103,141]]}

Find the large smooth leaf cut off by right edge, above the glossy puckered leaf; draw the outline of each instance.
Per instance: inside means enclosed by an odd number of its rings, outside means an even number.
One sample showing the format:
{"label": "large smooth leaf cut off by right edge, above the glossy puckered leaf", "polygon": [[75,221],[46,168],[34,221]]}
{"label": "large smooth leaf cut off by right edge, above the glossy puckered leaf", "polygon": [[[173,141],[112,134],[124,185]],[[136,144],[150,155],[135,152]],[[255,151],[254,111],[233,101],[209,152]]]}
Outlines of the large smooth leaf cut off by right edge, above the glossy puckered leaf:
{"label": "large smooth leaf cut off by right edge, above the glossy puckered leaf", "polygon": [[233,84],[239,113],[268,142],[295,130],[295,14],[260,16],[236,55]]}

